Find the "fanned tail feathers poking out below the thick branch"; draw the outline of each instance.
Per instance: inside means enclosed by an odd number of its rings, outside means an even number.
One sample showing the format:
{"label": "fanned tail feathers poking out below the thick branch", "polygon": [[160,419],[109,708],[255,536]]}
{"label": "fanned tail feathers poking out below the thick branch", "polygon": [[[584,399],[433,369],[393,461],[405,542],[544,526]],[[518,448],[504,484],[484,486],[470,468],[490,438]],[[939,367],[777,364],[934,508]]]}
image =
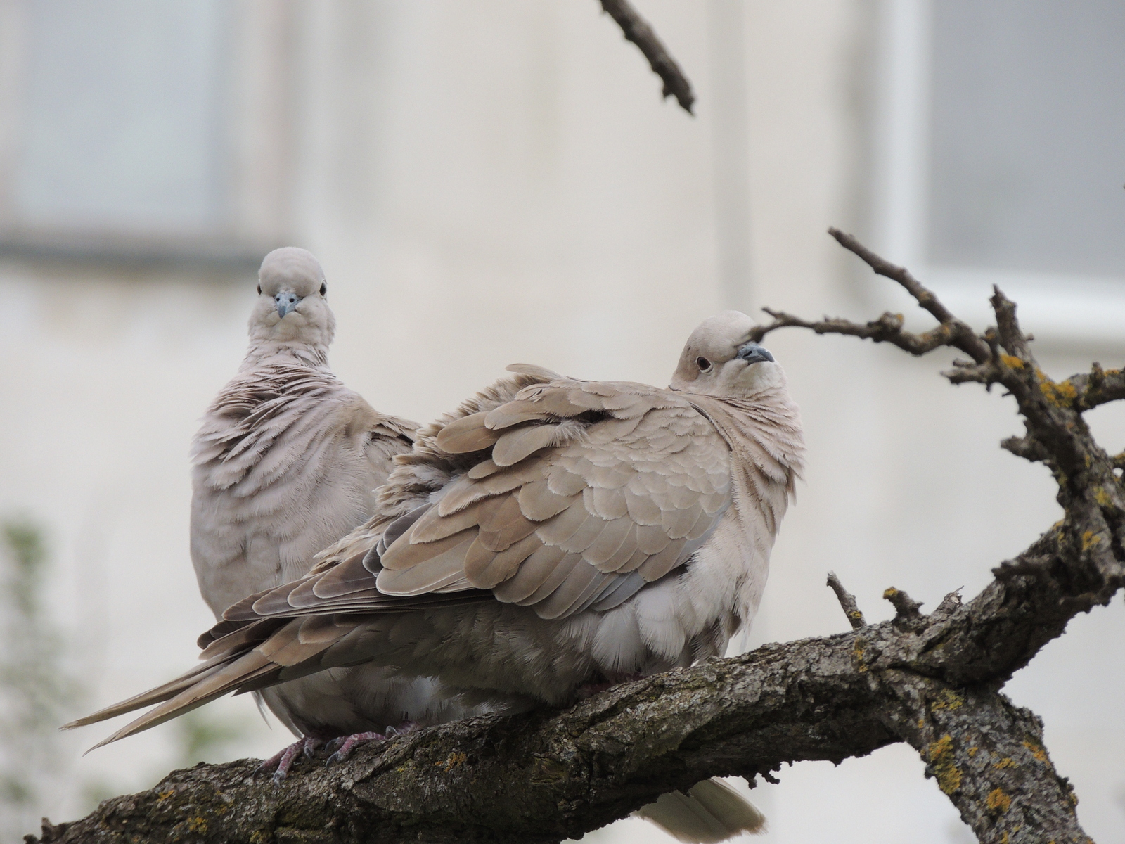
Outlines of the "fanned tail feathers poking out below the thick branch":
{"label": "fanned tail feathers poking out below the thick branch", "polygon": [[713,844],[739,833],[764,833],[758,808],[721,780],[698,782],[687,793],[672,791],[637,810],[677,841]]}

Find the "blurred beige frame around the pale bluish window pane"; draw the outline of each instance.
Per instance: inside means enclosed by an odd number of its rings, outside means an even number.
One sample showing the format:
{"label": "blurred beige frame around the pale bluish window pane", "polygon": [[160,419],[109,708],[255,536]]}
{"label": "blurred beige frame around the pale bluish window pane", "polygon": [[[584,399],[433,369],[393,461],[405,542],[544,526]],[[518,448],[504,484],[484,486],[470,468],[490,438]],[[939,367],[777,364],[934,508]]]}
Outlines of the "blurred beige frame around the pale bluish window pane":
{"label": "blurred beige frame around the pale bluish window pane", "polygon": [[290,239],[291,65],[299,51],[294,48],[298,21],[288,6],[238,3],[232,11],[224,219],[205,231],[154,233],[116,224],[104,230],[32,225],[16,216],[12,188],[22,140],[30,1],[0,2],[0,260],[245,272]]}

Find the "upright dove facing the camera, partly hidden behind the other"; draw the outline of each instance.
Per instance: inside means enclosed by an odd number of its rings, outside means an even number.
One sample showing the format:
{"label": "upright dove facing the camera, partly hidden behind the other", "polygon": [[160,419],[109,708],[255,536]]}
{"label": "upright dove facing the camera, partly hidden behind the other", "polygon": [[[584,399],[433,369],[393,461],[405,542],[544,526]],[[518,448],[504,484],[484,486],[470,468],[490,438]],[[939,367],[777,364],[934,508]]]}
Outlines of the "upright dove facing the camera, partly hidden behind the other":
{"label": "upright dove facing the camera, partly hidden behind the other", "polygon": [[[289,246],[266,255],[258,293],[245,360],[207,408],[191,450],[191,559],[216,618],[246,595],[304,576],[317,551],[361,524],[417,428],[372,410],[328,368],[335,318],[309,252]],[[433,680],[363,666],[261,694],[309,749],[323,738],[462,715],[436,692]],[[279,778],[297,749],[270,761],[281,763]]]}

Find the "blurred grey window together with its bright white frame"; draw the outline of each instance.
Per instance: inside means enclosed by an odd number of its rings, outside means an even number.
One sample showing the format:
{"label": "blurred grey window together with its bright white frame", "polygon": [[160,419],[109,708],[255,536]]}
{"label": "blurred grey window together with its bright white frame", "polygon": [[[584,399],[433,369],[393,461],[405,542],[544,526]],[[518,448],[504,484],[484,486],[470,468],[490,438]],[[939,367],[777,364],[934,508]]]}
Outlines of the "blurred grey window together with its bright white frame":
{"label": "blurred grey window together with its bright white frame", "polygon": [[874,245],[978,324],[997,284],[1041,338],[1120,341],[1125,2],[882,9]]}

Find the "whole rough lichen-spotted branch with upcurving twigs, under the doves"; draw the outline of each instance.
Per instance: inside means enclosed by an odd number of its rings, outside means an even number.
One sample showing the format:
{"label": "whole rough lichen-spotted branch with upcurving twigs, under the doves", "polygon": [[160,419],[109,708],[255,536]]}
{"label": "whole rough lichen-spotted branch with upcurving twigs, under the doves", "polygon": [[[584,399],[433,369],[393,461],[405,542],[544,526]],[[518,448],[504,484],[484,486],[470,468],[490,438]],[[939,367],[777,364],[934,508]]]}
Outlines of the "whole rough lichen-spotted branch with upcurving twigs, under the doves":
{"label": "whole rough lichen-spotted branch with upcurving twigs, under the doves", "polygon": [[[997,290],[997,325],[976,334],[904,269],[832,231],[894,279],[938,325],[901,316],[863,324],[771,312],[757,339],[785,326],[940,345],[968,360],[953,383],[1000,384],[1025,434],[1004,447],[1044,463],[1065,515],[962,603],[930,614],[901,590],[891,621],[867,625],[829,576],[848,632],[710,659],[603,692],[561,712],[477,718],[361,748],[339,767],[305,763],[274,790],[253,763],[177,771],[154,789],[102,803],[30,842],[558,842],[623,817],[660,793],[712,775],[752,783],[785,762],[862,756],[906,742],[981,842],[1088,842],[1077,798],[1052,766],[1042,724],[999,690],[1079,612],[1125,583],[1122,455],[1092,438],[1082,412],[1125,396],[1117,370],[1052,381],[1036,366],[1016,307]],[[843,626],[843,619],[842,619]]]}

